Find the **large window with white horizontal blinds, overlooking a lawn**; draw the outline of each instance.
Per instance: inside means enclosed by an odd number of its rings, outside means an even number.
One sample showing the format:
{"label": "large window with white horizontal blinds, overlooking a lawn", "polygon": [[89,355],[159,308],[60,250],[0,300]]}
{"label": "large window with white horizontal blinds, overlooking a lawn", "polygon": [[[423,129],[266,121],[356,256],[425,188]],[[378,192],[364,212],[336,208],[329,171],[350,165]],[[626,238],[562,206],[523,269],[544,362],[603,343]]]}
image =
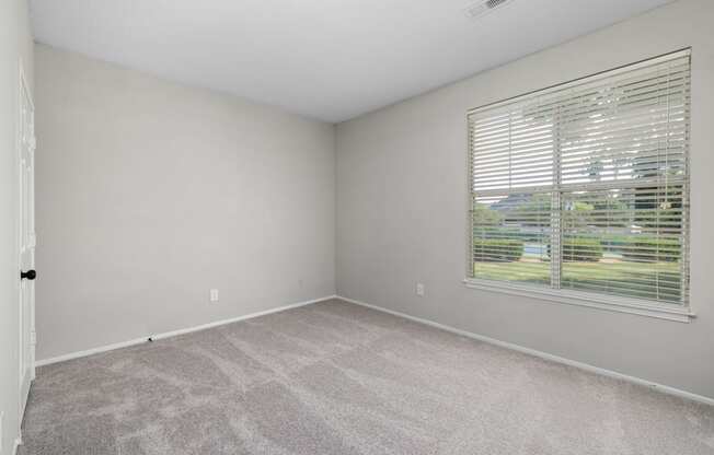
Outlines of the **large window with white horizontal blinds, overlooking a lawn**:
{"label": "large window with white horizontal blinds, overlooking a lawn", "polygon": [[689,50],[471,110],[467,282],[688,314],[689,118]]}

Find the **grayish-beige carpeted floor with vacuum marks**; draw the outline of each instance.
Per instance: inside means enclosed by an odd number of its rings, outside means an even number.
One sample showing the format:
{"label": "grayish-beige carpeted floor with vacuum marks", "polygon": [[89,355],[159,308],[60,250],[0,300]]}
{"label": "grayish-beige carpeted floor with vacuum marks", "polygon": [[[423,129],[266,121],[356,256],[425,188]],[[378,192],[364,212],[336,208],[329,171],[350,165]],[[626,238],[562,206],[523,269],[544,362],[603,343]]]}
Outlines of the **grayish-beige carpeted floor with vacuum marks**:
{"label": "grayish-beige carpeted floor with vacuum marks", "polygon": [[714,454],[714,407],[332,301],[39,370],[35,454]]}

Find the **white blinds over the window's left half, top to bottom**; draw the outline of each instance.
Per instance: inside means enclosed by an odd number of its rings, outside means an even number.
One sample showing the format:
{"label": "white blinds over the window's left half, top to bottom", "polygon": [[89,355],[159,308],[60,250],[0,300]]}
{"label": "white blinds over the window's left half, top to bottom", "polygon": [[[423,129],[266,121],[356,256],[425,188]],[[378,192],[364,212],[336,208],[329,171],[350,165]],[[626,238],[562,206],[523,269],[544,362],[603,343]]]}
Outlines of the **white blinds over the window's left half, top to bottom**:
{"label": "white blinds over the window's left half, top to bottom", "polygon": [[533,96],[470,117],[472,278],[550,285],[555,108]]}

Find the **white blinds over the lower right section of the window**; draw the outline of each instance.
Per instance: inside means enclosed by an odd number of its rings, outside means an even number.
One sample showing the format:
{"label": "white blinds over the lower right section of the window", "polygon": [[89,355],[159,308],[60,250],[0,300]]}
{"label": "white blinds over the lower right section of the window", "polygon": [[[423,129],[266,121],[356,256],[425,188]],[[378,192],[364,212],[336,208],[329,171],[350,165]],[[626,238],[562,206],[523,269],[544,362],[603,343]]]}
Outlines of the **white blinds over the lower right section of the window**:
{"label": "white blinds over the lower right section of the window", "polygon": [[684,303],[683,187],[563,194],[563,289]]}

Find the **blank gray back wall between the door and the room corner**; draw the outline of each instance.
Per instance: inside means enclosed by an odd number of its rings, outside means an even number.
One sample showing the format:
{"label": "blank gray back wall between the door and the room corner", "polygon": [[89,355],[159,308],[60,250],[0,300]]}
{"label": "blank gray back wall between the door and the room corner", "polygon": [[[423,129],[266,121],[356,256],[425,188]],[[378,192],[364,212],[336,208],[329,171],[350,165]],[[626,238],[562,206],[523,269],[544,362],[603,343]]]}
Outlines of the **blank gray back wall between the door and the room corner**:
{"label": "blank gray back wall between the door and the room corner", "polygon": [[44,45],[36,66],[38,360],[334,294],[334,126]]}

